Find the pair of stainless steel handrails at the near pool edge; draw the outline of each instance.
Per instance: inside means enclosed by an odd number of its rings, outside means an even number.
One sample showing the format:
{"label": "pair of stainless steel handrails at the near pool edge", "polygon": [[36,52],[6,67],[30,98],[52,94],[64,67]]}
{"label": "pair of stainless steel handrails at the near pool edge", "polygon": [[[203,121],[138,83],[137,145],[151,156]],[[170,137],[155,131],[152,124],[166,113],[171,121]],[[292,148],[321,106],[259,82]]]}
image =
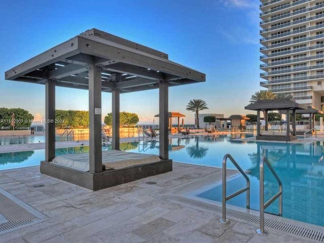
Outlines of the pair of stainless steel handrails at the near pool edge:
{"label": "pair of stainless steel handrails at the near pool edge", "polygon": [[[247,186],[241,190],[234,192],[233,194],[226,196],[226,162],[227,159],[230,159],[232,164],[236,167],[236,169],[245,177],[247,181]],[[272,196],[266,203],[264,203],[264,164],[266,164],[278,182],[279,191]],[[230,154],[225,154],[223,158],[222,165],[222,218],[219,220],[221,223],[228,223],[229,220],[226,219],[226,201],[241,194],[242,192],[247,192],[247,209],[250,209],[250,179],[247,174],[240,168],[240,166],[236,163],[235,159]],[[272,168],[266,157],[262,157],[260,160],[260,229],[257,229],[258,234],[266,235],[267,231],[264,230],[264,210],[273,203],[275,199],[279,197],[279,216],[282,216],[282,183],[279,179],[278,175]]]}

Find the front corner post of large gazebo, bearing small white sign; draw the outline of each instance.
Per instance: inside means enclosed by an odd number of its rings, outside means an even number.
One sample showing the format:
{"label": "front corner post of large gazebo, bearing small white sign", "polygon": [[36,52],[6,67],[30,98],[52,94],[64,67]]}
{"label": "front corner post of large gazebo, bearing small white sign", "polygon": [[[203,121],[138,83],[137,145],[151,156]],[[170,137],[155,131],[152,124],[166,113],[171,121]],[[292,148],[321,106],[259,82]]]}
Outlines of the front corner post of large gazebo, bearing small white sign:
{"label": "front corner post of large gazebo, bearing small white sign", "polygon": [[89,167],[102,172],[101,70],[89,65]]}

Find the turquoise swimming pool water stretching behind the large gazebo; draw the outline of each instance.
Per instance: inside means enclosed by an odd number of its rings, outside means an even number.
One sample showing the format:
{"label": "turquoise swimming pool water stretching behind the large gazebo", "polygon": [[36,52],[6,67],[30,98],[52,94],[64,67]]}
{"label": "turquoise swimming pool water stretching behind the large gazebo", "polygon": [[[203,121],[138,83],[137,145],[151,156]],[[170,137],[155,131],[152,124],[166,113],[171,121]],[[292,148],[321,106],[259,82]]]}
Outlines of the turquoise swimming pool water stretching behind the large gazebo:
{"label": "turquoise swimming pool water stretching behind the large gazebo", "polygon": [[[251,136],[251,135],[244,135]],[[158,141],[120,144],[122,150],[141,153],[159,153]],[[224,154],[230,153],[244,170],[249,170],[251,180],[251,208],[259,209],[259,161],[263,153],[272,164],[283,184],[283,216],[311,224],[324,226],[321,217],[324,208],[324,149],[323,142],[309,144],[243,142],[228,136],[208,136],[169,140],[169,157],[187,164],[221,167]],[[111,149],[110,146],[103,150]],[[88,147],[56,149],[56,154],[88,152]],[[0,170],[39,165],[45,151],[34,150],[16,153],[0,153]],[[231,163],[228,168],[234,169]],[[227,183],[227,193],[244,185],[241,176]],[[277,183],[265,170],[265,198],[277,192]],[[209,200],[221,200],[220,184],[210,185],[197,193]],[[245,194],[228,201],[228,204],[245,207]],[[277,213],[277,201],[266,212]]]}

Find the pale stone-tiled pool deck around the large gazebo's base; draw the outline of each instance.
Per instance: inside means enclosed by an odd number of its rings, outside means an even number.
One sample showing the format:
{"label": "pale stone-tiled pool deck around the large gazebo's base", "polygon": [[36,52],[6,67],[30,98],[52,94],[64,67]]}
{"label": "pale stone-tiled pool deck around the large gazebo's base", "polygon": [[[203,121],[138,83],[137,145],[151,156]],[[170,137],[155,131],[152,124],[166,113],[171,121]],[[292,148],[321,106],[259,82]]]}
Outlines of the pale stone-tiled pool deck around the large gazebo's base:
{"label": "pale stone-tiled pool deck around the large gazebo's base", "polygon": [[211,177],[220,180],[221,170],[174,163],[173,172],[93,192],[42,175],[38,166],[0,171],[1,188],[48,216],[1,234],[0,242],[312,242],[271,228],[261,236],[258,225],[223,225],[217,213],[160,199]]}

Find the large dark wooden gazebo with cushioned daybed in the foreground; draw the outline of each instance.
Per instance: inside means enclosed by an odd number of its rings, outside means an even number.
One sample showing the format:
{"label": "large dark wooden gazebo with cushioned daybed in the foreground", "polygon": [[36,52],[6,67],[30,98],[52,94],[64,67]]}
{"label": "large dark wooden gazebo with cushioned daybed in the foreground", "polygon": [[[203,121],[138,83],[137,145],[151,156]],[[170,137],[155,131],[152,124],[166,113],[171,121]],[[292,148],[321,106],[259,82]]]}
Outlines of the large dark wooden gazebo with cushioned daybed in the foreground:
{"label": "large dark wooden gazebo with cushioned daybed in the foreground", "polygon": [[[6,71],[5,78],[45,85],[46,152],[41,173],[92,190],[172,171],[168,149],[169,87],[206,80],[204,73],[170,61],[166,53],[98,29],[87,30],[19,64]],[[89,90],[89,154],[55,155],[56,86]],[[160,128],[159,156],[152,159],[119,151],[120,94],[151,89],[159,90]],[[102,151],[102,92],[112,93],[110,152]]]}

